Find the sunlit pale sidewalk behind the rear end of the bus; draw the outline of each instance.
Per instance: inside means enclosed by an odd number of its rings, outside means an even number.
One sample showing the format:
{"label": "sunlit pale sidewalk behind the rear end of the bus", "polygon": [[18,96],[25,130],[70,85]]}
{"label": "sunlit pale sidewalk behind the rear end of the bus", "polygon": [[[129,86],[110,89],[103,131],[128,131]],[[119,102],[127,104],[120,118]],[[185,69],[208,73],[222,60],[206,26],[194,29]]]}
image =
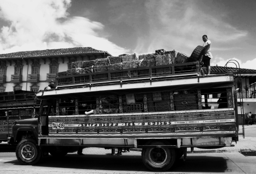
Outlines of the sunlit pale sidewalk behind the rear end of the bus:
{"label": "sunlit pale sidewalk behind the rear end of the bus", "polygon": [[[256,128],[256,125],[245,125],[245,129]],[[239,132],[242,133],[242,126],[239,126]],[[192,153],[222,153],[222,152],[239,152],[239,151],[256,151],[256,136],[255,137],[245,137],[242,138],[242,135],[239,136],[239,141],[237,144],[232,142],[233,147],[222,147],[215,149],[201,149],[194,148]],[[132,151],[141,151],[141,149],[131,149]],[[187,153],[191,153],[191,149],[187,148]]]}

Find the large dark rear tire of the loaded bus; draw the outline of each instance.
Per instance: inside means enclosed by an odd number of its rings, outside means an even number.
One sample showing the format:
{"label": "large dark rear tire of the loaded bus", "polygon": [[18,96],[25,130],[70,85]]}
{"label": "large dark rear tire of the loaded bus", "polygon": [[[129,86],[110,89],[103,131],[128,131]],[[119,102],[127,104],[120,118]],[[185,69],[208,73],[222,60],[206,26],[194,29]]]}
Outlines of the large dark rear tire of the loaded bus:
{"label": "large dark rear tire of the loaded bus", "polygon": [[[147,145],[170,145],[168,141],[151,141]],[[149,147],[142,149],[142,161],[151,171],[164,172],[173,166],[176,153],[174,148]]]}

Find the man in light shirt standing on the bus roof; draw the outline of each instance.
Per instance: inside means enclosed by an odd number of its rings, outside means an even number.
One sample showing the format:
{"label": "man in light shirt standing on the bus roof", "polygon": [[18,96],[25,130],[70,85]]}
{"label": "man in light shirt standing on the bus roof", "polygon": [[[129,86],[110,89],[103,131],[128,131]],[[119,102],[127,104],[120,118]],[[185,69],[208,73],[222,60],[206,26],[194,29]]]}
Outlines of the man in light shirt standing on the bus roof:
{"label": "man in light shirt standing on the bus roof", "polygon": [[210,60],[212,58],[212,54],[211,54],[211,41],[208,40],[207,35],[203,35],[203,41],[204,41],[204,55],[203,55],[203,59],[202,61],[204,62],[204,65],[206,65],[206,71],[207,71],[207,75],[210,75],[210,71],[211,71],[211,66],[210,66]]}

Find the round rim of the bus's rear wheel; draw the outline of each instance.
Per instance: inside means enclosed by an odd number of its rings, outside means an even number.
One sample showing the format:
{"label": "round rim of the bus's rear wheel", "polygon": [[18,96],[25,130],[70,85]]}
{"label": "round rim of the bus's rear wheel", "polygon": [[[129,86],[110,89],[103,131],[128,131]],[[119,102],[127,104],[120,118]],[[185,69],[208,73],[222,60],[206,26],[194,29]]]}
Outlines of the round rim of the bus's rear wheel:
{"label": "round rim of the bus's rear wheel", "polygon": [[167,160],[167,152],[164,148],[150,148],[149,160],[154,165],[162,165]]}

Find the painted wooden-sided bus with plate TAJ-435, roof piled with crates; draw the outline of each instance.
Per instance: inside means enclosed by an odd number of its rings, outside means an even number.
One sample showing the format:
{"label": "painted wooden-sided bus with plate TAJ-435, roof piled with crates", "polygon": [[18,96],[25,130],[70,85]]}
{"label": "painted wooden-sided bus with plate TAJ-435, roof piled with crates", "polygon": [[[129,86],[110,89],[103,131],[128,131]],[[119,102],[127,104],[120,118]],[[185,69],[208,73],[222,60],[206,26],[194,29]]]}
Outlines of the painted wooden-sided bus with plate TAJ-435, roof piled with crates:
{"label": "painted wooden-sided bus with plate TAJ-435, roof piled with crates", "polygon": [[[17,159],[33,165],[71,148],[142,148],[144,165],[163,172],[186,159],[188,147],[231,146],[239,128],[233,73],[203,76],[198,61],[177,63],[172,53],[72,64],[57,89],[36,94],[38,119],[15,121],[9,144]],[[211,108],[211,94],[223,94],[224,107]]]}

